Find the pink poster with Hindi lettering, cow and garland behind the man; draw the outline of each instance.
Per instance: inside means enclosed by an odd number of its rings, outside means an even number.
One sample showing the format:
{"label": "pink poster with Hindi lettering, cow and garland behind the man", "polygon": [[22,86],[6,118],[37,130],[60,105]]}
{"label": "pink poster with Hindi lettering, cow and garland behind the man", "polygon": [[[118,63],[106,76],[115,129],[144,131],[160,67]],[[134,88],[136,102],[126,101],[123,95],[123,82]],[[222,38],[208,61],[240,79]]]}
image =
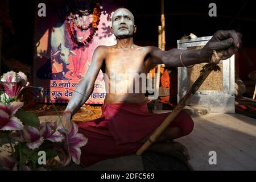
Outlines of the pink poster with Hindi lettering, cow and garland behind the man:
{"label": "pink poster with Hindi lettering, cow and garland behind the man", "polygon": [[[34,86],[39,102],[68,102],[88,70],[94,49],[116,43],[111,17],[118,7],[103,1],[46,1],[46,16],[35,14]],[[82,94],[82,93],[81,93]],[[86,104],[105,98],[102,71]]]}

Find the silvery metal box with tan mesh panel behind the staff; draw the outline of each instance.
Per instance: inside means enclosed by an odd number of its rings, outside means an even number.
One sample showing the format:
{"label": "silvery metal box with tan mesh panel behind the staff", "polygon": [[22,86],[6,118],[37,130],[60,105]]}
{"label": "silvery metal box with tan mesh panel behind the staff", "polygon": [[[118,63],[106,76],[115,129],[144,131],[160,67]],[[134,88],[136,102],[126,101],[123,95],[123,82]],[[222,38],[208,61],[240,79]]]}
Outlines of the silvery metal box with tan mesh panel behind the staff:
{"label": "silvery metal box with tan mesh panel behind the staff", "polygon": [[[193,39],[177,40],[179,49],[200,49],[207,44],[212,36]],[[205,63],[204,63],[205,64]],[[178,68],[177,100],[187,93],[195,82],[204,64],[197,64],[193,68]],[[221,72],[212,72],[192,97],[188,105],[203,106],[210,113],[234,113],[234,55],[219,64]]]}

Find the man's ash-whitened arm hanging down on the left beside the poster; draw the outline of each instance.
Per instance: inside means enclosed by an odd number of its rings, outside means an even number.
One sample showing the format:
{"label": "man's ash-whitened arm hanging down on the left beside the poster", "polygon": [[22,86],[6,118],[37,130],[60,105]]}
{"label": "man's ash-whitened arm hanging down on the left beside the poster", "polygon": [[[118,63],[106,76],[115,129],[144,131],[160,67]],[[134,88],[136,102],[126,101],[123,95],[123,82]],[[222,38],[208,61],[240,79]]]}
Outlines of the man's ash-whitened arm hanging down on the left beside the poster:
{"label": "man's ash-whitened arm hanging down on the left beside the poster", "polygon": [[69,129],[69,121],[77,110],[88,100],[90,94],[94,89],[94,82],[100,72],[103,61],[105,60],[104,46],[99,46],[95,49],[92,56],[92,63],[86,72],[86,75],[79,82],[76,91],[73,92],[71,100],[68,102],[68,106],[63,114],[64,126]]}

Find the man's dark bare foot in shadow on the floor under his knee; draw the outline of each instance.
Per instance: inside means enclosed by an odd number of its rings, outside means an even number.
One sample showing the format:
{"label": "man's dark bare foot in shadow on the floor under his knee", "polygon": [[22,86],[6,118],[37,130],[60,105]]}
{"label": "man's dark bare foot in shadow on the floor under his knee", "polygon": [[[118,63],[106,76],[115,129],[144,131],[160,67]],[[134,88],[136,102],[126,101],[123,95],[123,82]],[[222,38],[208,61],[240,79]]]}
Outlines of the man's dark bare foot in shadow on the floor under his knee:
{"label": "man's dark bare foot in shadow on the floor under his knee", "polygon": [[174,156],[183,162],[187,162],[190,159],[188,149],[179,142],[168,141],[164,143],[154,143],[149,150]]}

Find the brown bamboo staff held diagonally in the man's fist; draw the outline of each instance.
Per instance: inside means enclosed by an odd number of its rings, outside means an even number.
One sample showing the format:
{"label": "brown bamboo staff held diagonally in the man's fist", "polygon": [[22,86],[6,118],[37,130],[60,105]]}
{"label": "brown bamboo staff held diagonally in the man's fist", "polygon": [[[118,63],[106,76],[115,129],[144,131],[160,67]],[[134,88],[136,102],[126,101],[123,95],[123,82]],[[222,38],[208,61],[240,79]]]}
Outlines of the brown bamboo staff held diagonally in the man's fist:
{"label": "brown bamboo staff held diagonally in the man's fist", "polygon": [[183,98],[179,101],[179,103],[175,106],[174,110],[167,116],[166,119],[164,119],[163,123],[156,129],[156,131],[147,139],[147,141],[143,144],[141,148],[137,151],[137,155],[142,155],[144,151],[147,150],[148,147],[151,146],[152,143],[158,139],[158,137],[164,132],[164,130],[170,125],[170,123],[174,120],[174,118],[179,114],[179,112],[183,109],[185,105],[188,104],[188,102],[191,100],[193,95],[196,93],[196,91],[200,88],[200,86],[203,84],[205,79],[208,77],[210,72],[214,71],[220,71],[220,67],[216,63],[220,61],[220,55],[221,52],[217,54],[216,51],[213,51],[213,55],[211,57],[211,61],[213,62],[211,64],[204,65],[204,69],[200,71],[200,76],[197,78],[197,80],[193,83],[191,88],[188,90],[188,92],[185,94]]}

